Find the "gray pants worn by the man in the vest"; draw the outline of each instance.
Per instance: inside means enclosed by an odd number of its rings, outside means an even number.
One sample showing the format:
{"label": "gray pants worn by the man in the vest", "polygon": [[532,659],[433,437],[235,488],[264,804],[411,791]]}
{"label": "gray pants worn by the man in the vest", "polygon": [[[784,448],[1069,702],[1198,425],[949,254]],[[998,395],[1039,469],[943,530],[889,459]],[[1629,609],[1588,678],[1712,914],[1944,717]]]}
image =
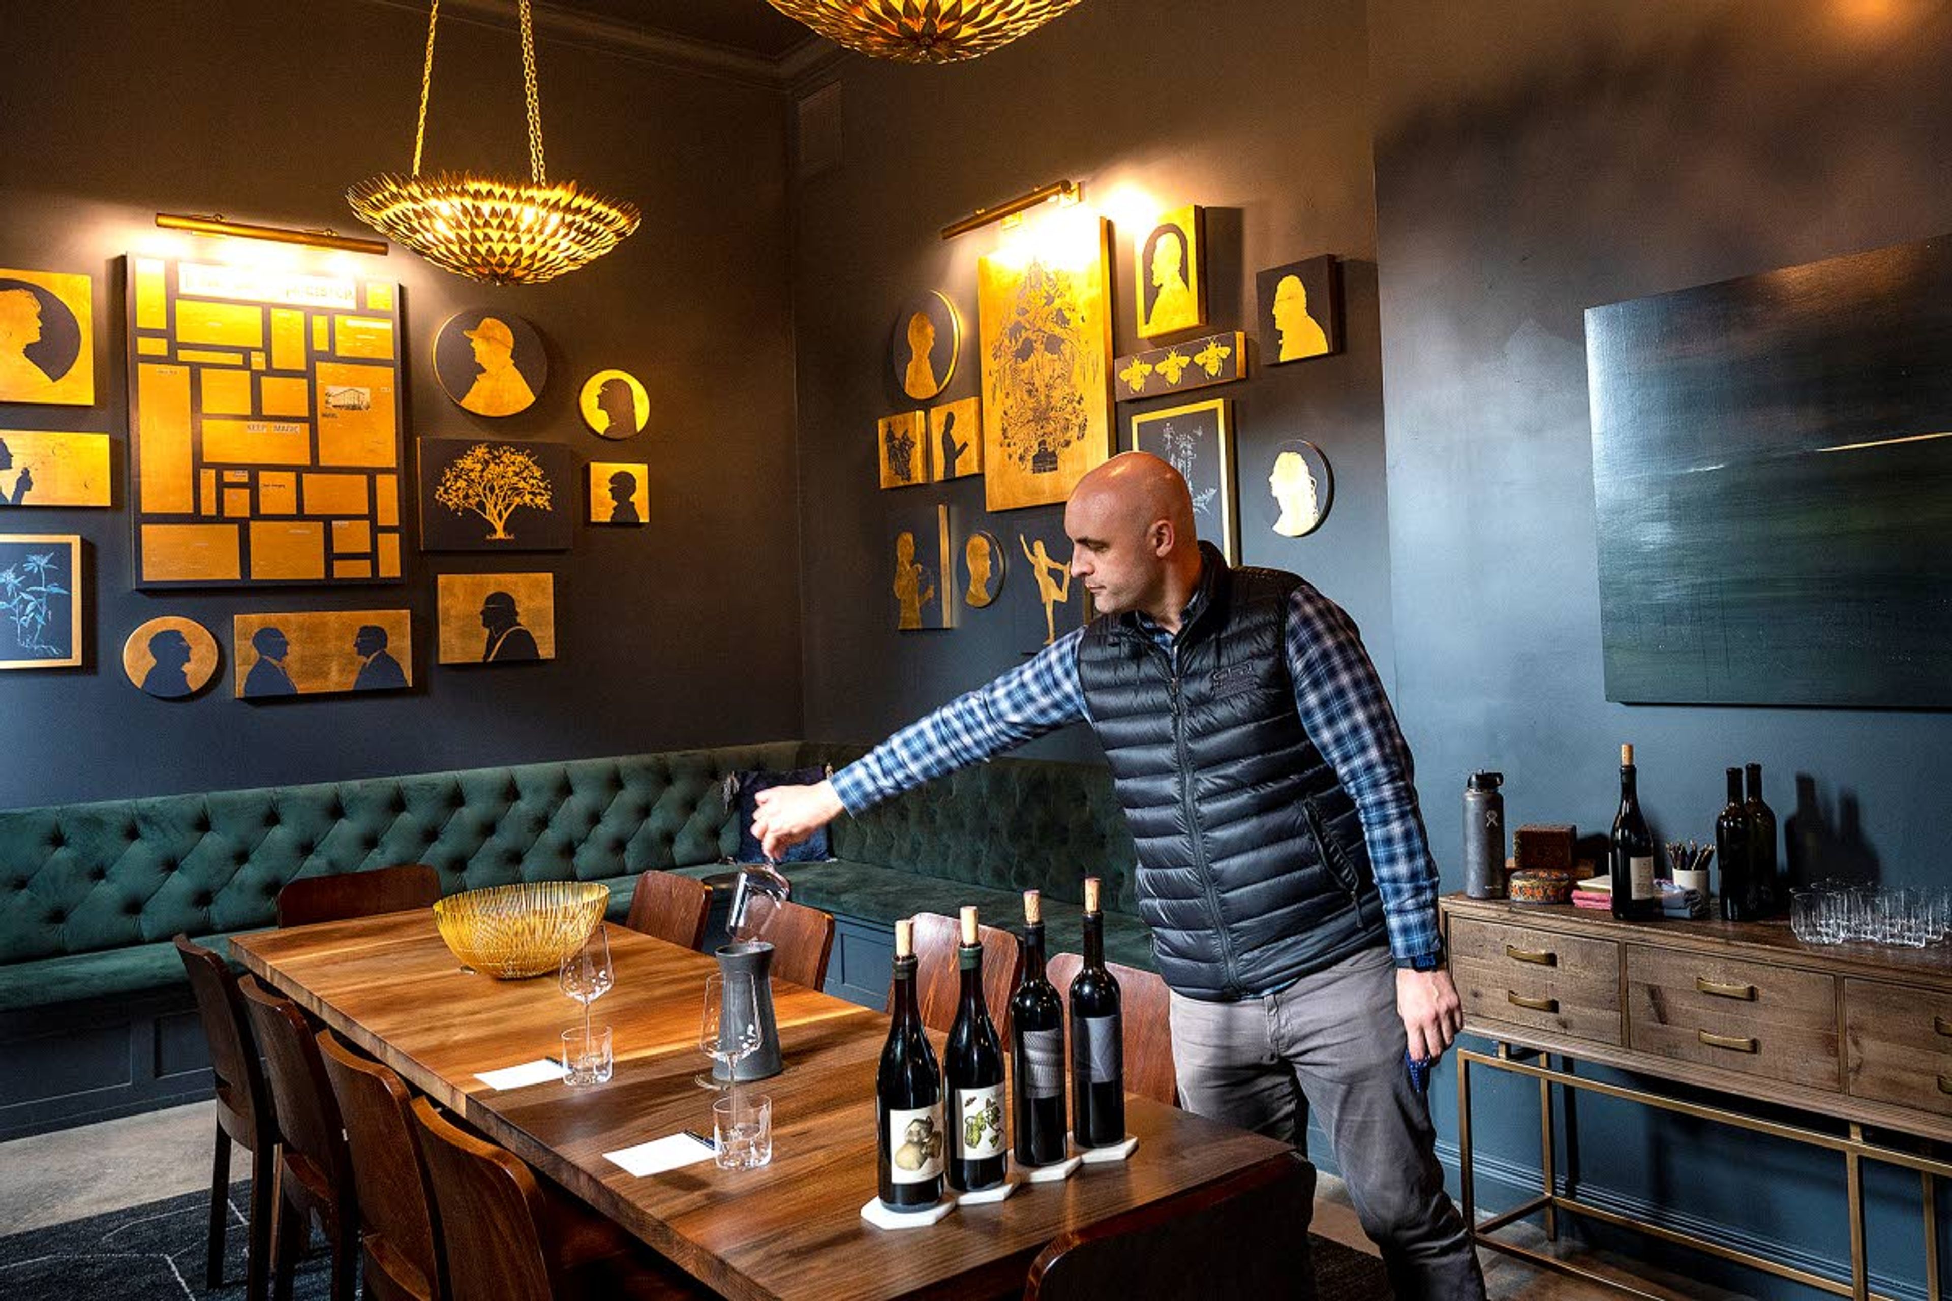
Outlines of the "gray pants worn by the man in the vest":
{"label": "gray pants worn by the man in the vest", "polygon": [[[1240,1003],[1173,995],[1179,1102],[1308,1149],[1308,1108],[1335,1147],[1362,1231],[1398,1301],[1482,1301],[1464,1217],[1444,1194],[1437,1131],[1403,1069],[1396,966],[1372,948]],[[1306,1235],[1302,1235],[1306,1252]]]}

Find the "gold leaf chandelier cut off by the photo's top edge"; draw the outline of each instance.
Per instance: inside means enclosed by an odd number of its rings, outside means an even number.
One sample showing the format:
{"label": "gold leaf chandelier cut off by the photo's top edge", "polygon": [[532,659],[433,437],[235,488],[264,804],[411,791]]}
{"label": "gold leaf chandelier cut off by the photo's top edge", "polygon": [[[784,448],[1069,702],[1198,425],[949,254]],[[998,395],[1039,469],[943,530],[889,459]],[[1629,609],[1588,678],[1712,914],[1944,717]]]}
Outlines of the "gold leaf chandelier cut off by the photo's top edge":
{"label": "gold leaf chandelier cut off by the photo's top edge", "polygon": [[769,0],[873,59],[960,62],[1037,31],[1078,0]]}

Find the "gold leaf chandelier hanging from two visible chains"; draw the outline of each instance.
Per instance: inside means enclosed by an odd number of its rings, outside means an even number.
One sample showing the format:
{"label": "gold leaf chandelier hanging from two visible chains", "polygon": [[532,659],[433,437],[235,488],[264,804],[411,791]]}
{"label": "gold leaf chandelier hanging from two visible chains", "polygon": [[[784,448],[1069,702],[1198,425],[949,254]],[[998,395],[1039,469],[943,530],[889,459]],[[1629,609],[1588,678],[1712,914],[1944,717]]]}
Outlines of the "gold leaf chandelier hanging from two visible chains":
{"label": "gold leaf chandelier hanging from two visible chains", "polygon": [[521,88],[529,107],[529,179],[472,172],[420,174],[420,154],[427,140],[427,90],[433,84],[433,29],[441,21],[441,0],[433,0],[427,14],[427,60],[420,72],[414,172],[381,172],[346,191],[346,201],[365,224],[437,267],[490,285],[541,285],[574,271],[617,248],[640,220],[634,203],[593,195],[576,181],[549,183],[529,0],[517,0],[517,8]]}

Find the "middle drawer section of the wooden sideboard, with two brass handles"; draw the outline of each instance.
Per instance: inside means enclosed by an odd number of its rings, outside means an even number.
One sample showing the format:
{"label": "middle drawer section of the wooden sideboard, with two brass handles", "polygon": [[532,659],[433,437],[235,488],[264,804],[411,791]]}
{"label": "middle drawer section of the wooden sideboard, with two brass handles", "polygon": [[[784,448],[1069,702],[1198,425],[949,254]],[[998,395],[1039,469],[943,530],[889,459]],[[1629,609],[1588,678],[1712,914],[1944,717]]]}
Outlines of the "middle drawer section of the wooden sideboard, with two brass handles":
{"label": "middle drawer section of the wooden sideboard, with two brass handles", "polygon": [[1837,979],[1765,962],[1626,946],[1626,1034],[1642,1053],[1837,1084]]}

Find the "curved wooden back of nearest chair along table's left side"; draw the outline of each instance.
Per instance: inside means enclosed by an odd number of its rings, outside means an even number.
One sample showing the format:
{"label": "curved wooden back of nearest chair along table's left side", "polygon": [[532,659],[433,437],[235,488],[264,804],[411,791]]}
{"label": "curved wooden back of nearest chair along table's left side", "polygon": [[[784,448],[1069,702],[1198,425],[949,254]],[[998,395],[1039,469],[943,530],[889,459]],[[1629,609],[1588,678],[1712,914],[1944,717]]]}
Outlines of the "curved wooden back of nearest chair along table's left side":
{"label": "curved wooden back of nearest chair along table's left side", "polygon": [[465,1133],[414,1098],[420,1147],[451,1301],[554,1301],[543,1250],[547,1205],[535,1174],[513,1153]]}

